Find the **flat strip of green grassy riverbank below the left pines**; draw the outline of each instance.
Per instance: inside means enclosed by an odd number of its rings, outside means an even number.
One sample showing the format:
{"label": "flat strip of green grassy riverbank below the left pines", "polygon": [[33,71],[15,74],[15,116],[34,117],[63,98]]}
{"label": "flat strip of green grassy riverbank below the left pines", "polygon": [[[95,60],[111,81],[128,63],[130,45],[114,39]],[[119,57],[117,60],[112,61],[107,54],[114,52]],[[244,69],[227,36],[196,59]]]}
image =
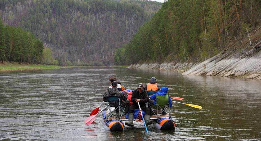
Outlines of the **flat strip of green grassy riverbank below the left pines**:
{"label": "flat strip of green grassy riverbank below the left pines", "polygon": [[6,71],[22,71],[22,70],[44,70],[44,69],[60,69],[64,68],[55,65],[41,65],[41,64],[25,64],[18,62],[0,62],[0,72]]}

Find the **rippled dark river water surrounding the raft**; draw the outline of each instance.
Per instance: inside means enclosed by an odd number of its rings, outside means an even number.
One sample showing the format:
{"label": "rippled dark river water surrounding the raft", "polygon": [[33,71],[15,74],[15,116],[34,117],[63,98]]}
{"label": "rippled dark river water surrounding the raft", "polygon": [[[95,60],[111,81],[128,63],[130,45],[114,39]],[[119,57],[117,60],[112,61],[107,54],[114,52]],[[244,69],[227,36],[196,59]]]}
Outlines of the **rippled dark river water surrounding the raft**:
{"label": "rippled dark river water surrounding the raft", "polygon": [[[156,77],[179,101],[173,103],[175,131],[141,122],[107,131],[101,115],[83,121],[102,101],[115,76],[127,89]],[[79,67],[0,74],[0,140],[261,140],[261,81],[182,75],[174,71]],[[104,107],[102,105],[101,107]],[[100,108],[101,109],[101,108]]]}

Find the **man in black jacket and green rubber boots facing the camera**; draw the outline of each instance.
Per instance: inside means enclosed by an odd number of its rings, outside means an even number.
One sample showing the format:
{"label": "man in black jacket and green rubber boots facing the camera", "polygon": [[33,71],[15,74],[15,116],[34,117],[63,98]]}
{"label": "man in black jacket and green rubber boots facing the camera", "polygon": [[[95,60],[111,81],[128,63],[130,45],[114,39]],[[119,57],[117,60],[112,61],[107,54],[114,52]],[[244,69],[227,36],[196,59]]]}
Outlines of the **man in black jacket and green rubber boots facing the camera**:
{"label": "man in black jacket and green rubber boots facing the camera", "polygon": [[134,126],[134,110],[139,109],[138,102],[143,111],[145,111],[144,120],[146,125],[153,124],[153,120],[150,120],[150,109],[146,107],[146,102],[149,101],[148,93],[145,91],[143,84],[138,83],[137,89],[133,90],[131,101],[133,102],[129,110],[129,121],[125,122],[125,125]]}

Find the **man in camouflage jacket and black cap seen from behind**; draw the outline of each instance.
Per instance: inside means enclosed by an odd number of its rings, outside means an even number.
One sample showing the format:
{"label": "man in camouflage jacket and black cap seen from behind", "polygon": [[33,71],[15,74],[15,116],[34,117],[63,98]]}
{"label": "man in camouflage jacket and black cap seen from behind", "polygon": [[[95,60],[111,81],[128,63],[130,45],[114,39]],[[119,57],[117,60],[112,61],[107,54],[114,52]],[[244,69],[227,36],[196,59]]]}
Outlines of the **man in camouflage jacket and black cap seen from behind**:
{"label": "man in camouflage jacket and black cap seen from behind", "polygon": [[[106,92],[103,94],[103,101],[106,102],[107,97],[114,97],[114,96],[119,97],[120,105],[121,107],[124,107],[126,105],[125,113],[127,113],[129,111],[129,100],[128,100],[127,90],[125,90],[124,93],[122,93],[121,91],[117,90],[117,86],[118,86],[118,82],[116,81],[112,82],[111,88],[107,89]],[[119,101],[109,101],[109,105],[118,106]]]}

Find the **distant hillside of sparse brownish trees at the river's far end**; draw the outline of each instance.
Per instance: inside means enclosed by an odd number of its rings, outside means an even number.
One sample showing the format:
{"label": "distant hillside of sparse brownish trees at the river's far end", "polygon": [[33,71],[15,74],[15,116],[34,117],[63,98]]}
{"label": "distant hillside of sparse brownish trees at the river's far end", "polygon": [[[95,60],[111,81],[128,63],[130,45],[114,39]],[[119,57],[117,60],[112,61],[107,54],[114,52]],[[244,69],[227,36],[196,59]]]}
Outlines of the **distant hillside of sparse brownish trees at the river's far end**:
{"label": "distant hillside of sparse brownish trees at the river's far end", "polygon": [[115,49],[160,7],[134,0],[0,0],[0,16],[37,36],[60,64],[97,65],[110,64]]}

